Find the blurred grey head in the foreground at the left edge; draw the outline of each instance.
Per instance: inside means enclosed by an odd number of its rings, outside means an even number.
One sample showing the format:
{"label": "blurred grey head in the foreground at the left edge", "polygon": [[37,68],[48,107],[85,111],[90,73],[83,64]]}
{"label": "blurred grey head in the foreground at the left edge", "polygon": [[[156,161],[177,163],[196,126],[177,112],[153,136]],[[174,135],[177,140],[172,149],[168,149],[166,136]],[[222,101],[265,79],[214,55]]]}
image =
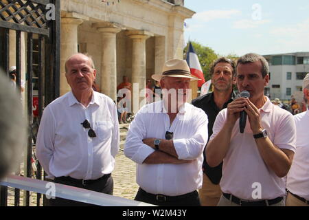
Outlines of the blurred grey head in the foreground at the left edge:
{"label": "blurred grey head in the foreground at the left edge", "polygon": [[20,94],[0,71],[0,179],[21,162],[22,146],[26,143],[26,123]]}

